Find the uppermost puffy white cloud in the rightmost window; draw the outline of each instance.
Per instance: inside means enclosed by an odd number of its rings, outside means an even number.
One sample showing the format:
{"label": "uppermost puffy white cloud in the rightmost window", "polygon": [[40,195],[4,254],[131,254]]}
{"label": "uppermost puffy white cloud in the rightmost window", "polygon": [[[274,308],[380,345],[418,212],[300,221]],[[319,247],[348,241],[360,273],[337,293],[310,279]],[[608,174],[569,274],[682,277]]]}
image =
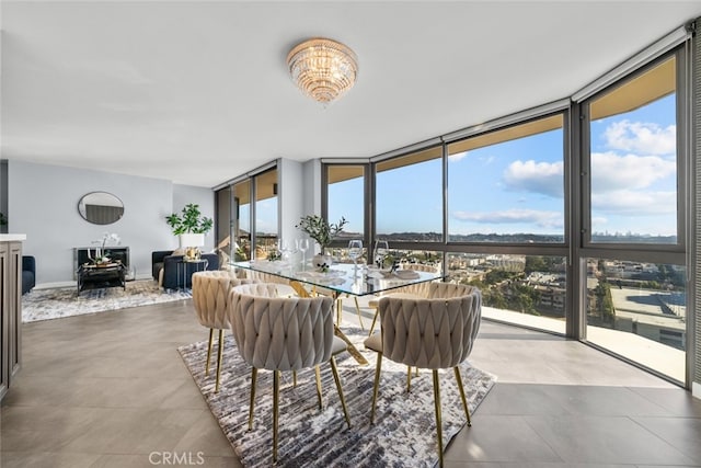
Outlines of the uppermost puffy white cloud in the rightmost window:
{"label": "uppermost puffy white cloud in the rightmost window", "polygon": [[607,147],[641,155],[674,155],[677,126],[660,127],[653,123],[613,122],[604,132]]}

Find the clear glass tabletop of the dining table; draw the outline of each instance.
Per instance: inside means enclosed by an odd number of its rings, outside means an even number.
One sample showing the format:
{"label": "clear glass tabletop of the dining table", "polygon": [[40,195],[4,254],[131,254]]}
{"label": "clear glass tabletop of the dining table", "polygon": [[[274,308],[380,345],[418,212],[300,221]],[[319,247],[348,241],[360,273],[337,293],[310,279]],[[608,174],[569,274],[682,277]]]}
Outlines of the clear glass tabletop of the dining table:
{"label": "clear glass tabletop of the dining table", "polygon": [[352,263],[334,263],[326,272],[317,271],[311,266],[303,267],[301,263],[269,260],[233,262],[231,266],[268,273],[354,296],[378,294],[411,284],[441,278],[440,273],[414,270],[397,270],[390,273],[389,270],[368,269],[365,265],[356,267]]}

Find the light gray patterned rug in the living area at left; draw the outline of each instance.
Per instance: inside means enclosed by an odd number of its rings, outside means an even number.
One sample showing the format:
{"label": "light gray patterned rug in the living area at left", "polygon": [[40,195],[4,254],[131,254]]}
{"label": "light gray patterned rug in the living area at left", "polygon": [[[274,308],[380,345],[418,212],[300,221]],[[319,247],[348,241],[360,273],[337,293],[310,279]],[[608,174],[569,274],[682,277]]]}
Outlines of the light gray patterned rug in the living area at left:
{"label": "light gray patterned rug in the living area at left", "polygon": [[83,290],[80,295],[76,287],[33,289],[22,296],[22,321],[58,319],[191,297],[182,290],[165,293],[153,279],[128,282],[126,289],[107,287]]}

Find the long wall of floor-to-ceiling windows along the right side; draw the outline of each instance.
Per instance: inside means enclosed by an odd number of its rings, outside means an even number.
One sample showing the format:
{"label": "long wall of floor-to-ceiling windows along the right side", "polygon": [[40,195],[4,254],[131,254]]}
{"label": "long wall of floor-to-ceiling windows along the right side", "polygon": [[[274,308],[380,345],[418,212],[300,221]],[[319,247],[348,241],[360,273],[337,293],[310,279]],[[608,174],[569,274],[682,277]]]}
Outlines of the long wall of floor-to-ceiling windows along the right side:
{"label": "long wall of floor-to-ceiling windows along the right side", "polygon": [[484,317],[687,381],[689,48],[659,47],[572,99],[370,157],[369,237],[478,285]]}

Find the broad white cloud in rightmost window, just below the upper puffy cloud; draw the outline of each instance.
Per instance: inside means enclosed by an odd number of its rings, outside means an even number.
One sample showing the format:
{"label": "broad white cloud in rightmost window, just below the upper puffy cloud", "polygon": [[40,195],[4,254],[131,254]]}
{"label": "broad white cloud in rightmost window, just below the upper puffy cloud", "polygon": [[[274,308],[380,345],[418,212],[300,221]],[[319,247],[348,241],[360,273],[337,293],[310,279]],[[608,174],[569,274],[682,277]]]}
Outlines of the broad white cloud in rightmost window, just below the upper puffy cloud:
{"label": "broad white cloud in rightmost window, just below the upper puffy cloud", "polygon": [[677,163],[658,156],[619,156],[608,151],[591,153],[591,190],[598,194],[620,187],[645,189],[674,175]]}

